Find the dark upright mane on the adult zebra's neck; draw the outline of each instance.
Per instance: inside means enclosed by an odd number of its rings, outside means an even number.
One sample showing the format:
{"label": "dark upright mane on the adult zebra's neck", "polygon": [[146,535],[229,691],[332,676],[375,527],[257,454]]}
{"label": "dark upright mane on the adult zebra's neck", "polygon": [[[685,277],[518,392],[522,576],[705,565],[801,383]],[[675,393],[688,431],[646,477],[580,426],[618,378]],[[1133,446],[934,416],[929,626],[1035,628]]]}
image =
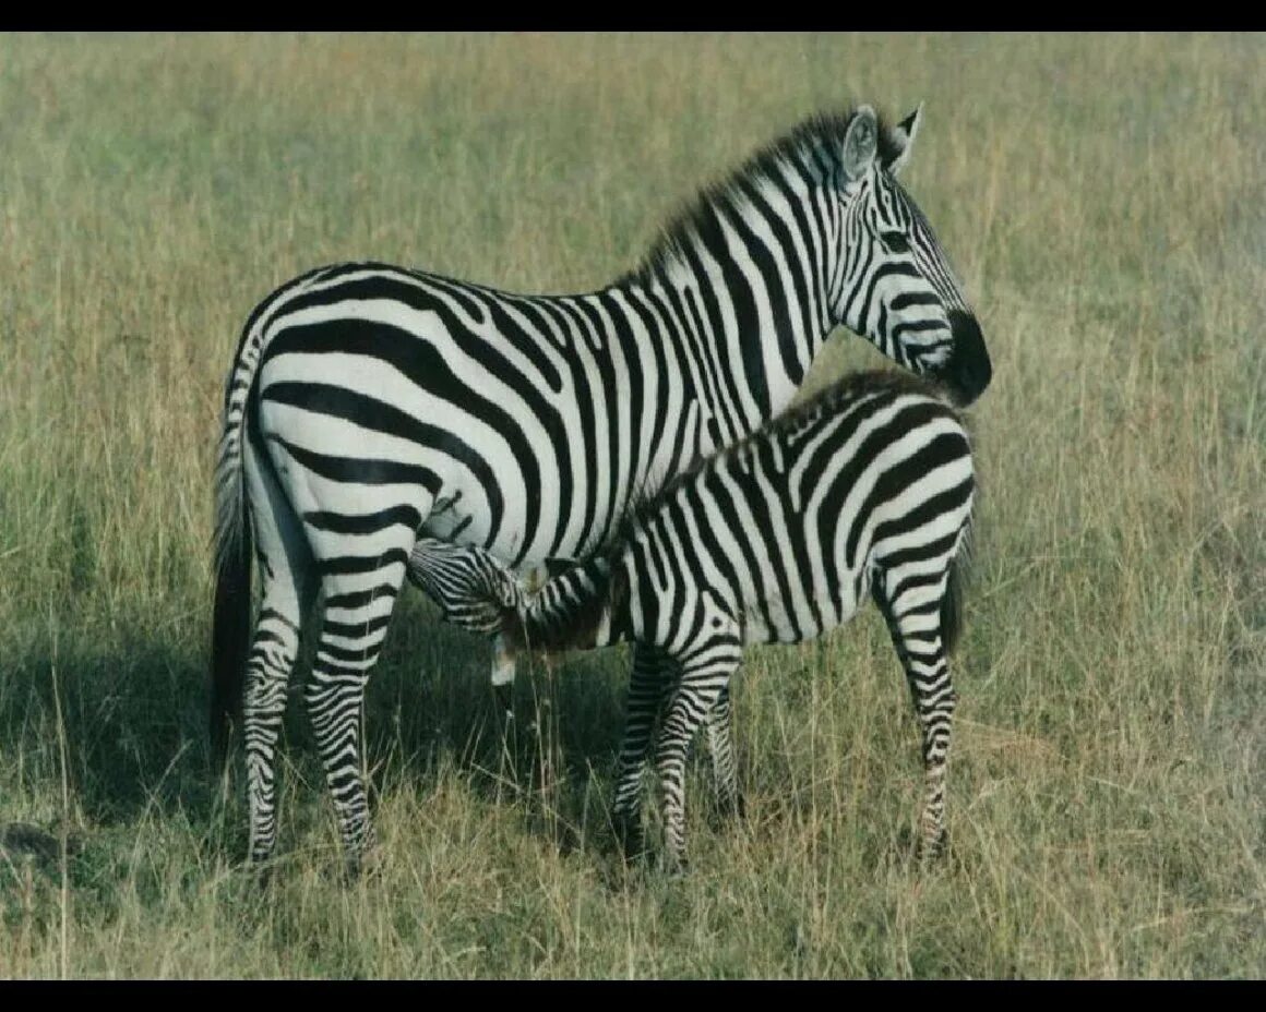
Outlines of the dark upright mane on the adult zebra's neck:
{"label": "dark upright mane on the adult zebra's neck", "polygon": [[[724,245],[717,209],[737,215],[736,201],[747,200],[743,191],[758,180],[777,178],[780,166],[794,166],[810,178],[837,176],[841,172],[844,152],[844,133],[855,115],[857,115],[855,109],[843,113],[817,113],[782,137],[771,140],[719,181],[704,186],[668,219],[641,263],[617,283],[649,282],[653,276],[677,259],[684,247],[690,247],[695,242],[703,242],[711,249]],[[889,133],[886,120],[882,116],[877,119],[876,157],[886,164],[900,153],[900,149]]]}

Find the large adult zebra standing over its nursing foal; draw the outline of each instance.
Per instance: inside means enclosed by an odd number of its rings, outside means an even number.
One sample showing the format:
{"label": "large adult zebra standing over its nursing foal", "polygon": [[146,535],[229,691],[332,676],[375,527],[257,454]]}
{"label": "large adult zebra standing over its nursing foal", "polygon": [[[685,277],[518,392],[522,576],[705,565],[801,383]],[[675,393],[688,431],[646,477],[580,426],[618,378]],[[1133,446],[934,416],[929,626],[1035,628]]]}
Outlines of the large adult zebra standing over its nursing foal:
{"label": "large adult zebra standing over its nursing foal", "polygon": [[513,567],[605,543],[649,478],[781,411],[837,324],[980,395],[980,328],[895,178],[920,110],[893,128],[870,106],[805,121],[598,292],[352,263],[256,307],[224,397],[211,660],[219,754],[243,711],[253,859],[275,841],[275,746],[318,591],[304,698],[354,867],[371,841],[365,684],[419,535]]}

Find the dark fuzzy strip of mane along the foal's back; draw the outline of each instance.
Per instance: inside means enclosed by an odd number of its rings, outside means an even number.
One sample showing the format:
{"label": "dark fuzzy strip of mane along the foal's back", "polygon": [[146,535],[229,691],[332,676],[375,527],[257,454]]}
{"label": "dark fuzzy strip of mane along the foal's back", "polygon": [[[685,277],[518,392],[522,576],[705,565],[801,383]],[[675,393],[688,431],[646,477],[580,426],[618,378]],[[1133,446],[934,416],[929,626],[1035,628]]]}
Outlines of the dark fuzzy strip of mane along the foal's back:
{"label": "dark fuzzy strip of mane along the foal's back", "polygon": [[614,560],[624,550],[637,530],[660,510],[663,501],[672,496],[681,486],[694,481],[701,472],[717,467],[722,460],[746,453],[752,443],[766,439],[771,434],[794,431],[804,423],[823,414],[834,414],[842,404],[855,401],[868,393],[922,393],[923,396],[941,401],[947,411],[951,411],[960,423],[966,425],[962,412],[958,410],[952,396],[934,379],[898,369],[863,369],[862,372],[848,373],[814,396],[798,405],[793,405],[751,435],[718,450],[711,457],[700,457],[685,471],[663,482],[657,488],[647,487],[642,492],[636,493],[629,501],[629,506],[609,546],[601,553],[592,554],[603,554]]}

